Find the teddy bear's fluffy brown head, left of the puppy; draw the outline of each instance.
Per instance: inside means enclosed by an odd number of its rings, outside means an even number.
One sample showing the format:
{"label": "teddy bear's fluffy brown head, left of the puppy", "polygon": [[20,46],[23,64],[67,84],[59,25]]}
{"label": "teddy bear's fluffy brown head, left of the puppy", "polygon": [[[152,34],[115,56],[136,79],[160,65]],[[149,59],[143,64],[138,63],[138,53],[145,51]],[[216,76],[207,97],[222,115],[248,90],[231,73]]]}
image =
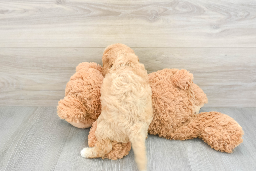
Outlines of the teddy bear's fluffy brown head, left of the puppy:
{"label": "teddy bear's fluffy brown head, left of the puppy", "polygon": [[103,78],[99,64],[80,63],[66,85],[64,99],[58,103],[58,116],[75,127],[91,127],[101,114],[100,89]]}

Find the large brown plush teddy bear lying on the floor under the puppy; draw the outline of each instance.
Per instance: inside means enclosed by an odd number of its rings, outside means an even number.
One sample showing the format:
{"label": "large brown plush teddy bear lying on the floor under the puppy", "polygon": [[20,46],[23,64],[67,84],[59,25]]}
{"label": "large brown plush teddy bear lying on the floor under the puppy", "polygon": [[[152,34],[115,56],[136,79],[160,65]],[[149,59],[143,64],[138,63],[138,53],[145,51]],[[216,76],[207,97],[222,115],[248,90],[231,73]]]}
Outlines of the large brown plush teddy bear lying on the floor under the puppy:
{"label": "large brown plush teddy bear lying on the floor under the puppy", "polygon": [[[61,119],[73,126],[92,126],[88,135],[90,147],[97,141],[94,132],[96,119],[101,113],[102,70],[96,63],[80,63],[67,83],[65,98],[59,101],[57,107]],[[149,74],[149,82],[154,111],[149,134],[175,140],[198,137],[211,148],[228,153],[243,142],[242,127],[228,115],[218,112],[198,114],[208,100],[202,89],[193,83],[193,74],[187,70],[163,69],[153,72]],[[106,157],[116,160],[126,156],[130,149],[131,143],[113,142],[112,150]]]}

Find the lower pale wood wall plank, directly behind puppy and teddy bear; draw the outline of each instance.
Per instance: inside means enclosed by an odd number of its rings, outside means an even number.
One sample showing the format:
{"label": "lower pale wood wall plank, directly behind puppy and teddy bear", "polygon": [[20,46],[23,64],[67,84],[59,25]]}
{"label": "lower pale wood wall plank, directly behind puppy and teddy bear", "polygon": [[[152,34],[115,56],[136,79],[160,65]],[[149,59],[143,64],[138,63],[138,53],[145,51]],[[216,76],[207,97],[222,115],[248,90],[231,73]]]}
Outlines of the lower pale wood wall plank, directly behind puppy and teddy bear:
{"label": "lower pale wood wall plank, directly behind puppy and teddy bear", "polygon": [[[256,48],[133,48],[148,73],[187,69],[205,107],[256,107]],[[249,49],[249,50],[248,50]],[[104,48],[2,48],[0,105],[57,106],[75,67],[101,63]]]}

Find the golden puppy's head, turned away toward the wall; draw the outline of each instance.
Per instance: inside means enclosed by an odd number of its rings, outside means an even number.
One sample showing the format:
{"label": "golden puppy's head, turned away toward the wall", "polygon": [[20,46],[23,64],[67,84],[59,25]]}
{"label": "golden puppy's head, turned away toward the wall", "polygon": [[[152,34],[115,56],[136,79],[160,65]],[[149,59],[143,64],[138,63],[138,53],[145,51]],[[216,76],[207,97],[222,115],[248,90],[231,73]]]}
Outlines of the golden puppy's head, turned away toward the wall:
{"label": "golden puppy's head, turned away toward the wall", "polygon": [[133,60],[138,61],[138,57],[128,46],[121,43],[109,45],[104,50],[102,56],[102,74],[105,76],[113,65],[127,63]]}

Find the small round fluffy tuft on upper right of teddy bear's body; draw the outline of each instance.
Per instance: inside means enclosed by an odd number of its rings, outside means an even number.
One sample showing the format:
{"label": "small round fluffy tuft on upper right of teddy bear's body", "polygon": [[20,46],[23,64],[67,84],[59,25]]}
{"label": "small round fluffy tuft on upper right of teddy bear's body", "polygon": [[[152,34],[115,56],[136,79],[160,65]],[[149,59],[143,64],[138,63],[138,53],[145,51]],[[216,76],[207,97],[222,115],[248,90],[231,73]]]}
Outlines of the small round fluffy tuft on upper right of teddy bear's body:
{"label": "small round fluffy tuft on upper right of teddy bear's body", "polygon": [[172,81],[178,88],[188,90],[193,83],[193,74],[185,69],[177,70],[172,76]]}

